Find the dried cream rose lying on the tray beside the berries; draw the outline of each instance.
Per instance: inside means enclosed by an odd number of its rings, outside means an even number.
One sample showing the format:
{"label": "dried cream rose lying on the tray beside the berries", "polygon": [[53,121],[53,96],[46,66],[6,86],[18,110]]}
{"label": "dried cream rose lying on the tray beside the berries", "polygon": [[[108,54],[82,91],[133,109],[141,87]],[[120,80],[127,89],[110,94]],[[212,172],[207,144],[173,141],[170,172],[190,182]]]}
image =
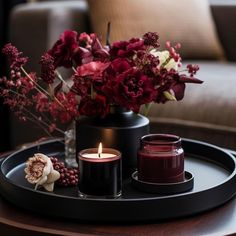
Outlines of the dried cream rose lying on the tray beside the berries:
{"label": "dried cream rose lying on the tray beside the berries", "polygon": [[42,153],[36,153],[26,161],[25,178],[35,189],[42,185],[47,191],[53,191],[54,182],[60,178],[60,173],[53,169],[50,158]]}

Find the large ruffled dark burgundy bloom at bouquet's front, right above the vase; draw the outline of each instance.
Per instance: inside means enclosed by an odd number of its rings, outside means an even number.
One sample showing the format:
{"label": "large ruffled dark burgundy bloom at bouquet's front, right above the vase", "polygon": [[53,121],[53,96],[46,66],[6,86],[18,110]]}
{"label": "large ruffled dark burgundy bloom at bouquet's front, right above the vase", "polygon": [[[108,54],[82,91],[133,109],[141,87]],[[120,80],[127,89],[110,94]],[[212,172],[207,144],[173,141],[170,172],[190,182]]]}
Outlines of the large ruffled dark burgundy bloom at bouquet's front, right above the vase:
{"label": "large ruffled dark burgundy bloom at bouquet's front, right above the vase", "polygon": [[112,86],[114,101],[135,112],[156,96],[152,79],[133,68],[118,75]]}

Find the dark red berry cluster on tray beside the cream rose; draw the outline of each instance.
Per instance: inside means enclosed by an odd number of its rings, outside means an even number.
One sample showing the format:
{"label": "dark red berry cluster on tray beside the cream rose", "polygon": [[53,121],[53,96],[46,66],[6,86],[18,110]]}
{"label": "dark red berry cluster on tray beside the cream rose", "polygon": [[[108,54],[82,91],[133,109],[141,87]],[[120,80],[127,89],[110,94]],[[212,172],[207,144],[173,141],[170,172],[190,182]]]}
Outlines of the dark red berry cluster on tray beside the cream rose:
{"label": "dark red berry cluster on tray beside the cream rose", "polygon": [[60,179],[56,184],[61,186],[76,186],[78,184],[79,170],[77,168],[66,168],[64,162],[59,161],[56,157],[50,157],[53,168],[60,173]]}

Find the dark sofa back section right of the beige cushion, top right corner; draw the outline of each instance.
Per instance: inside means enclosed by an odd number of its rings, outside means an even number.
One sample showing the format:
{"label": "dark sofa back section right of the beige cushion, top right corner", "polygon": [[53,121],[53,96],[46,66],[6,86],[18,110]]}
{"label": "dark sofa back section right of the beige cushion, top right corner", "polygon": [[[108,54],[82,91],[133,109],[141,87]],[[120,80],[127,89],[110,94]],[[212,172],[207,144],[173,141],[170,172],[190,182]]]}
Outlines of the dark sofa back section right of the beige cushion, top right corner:
{"label": "dark sofa back section right of the beige cushion, top right corner", "polygon": [[210,5],[226,59],[236,61],[236,2],[211,0]]}

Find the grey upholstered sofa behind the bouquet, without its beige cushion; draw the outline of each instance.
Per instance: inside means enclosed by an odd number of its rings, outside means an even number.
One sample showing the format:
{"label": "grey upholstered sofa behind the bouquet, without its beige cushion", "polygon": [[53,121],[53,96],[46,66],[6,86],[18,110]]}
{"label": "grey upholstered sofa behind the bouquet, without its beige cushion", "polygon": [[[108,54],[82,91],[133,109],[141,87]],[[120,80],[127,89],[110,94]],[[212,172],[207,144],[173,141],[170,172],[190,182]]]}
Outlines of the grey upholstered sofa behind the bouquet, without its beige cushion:
{"label": "grey upholstered sofa behind the bouquet, without its beige cushion", "polygon": [[[37,62],[40,55],[52,46],[65,29],[79,32],[92,32],[94,28],[96,29],[98,20],[95,16],[98,10],[103,10],[104,6],[94,6],[94,4],[95,0],[21,4],[14,8],[10,17],[9,41],[30,57],[28,68],[38,70]],[[210,35],[214,35],[215,38],[214,40],[202,38],[202,41],[197,42],[198,46],[203,49],[201,52],[199,49],[191,48],[191,45],[188,46],[183,58],[184,65],[194,63],[200,66],[197,77],[204,83],[188,84],[185,97],[180,102],[153,104],[148,117],[152,133],[172,133],[183,138],[236,149],[236,92],[234,91],[236,87],[236,47],[234,44],[236,42],[236,4],[233,1],[211,0],[208,2],[208,7],[213,34],[208,30],[202,31],[209,34],[209,38]],[[91,13],[92,10],[93,13]],[[116,14],[116,12],[110,12],[113,15]],[[162,9],[159,12],[161,13]],[[124,22],[130,21],[124,19]],[[191,25],[196,22],[197,19]],[[134,22],[133,25],[129,25],[131,33],[134,33],[133,31],[138,29],[141,23]],[[116,31],[116,29],[113,30]],[[122,30],[122,27],[119,30]],[[166,30],[171,31],[171,29]],[[188,37],[188,34],[182,33],[181,37],[183,36]],[[210,43],[204,48],[207,40]],[[183,44],[182,47],[184,46]],[[218,51],[209,51],[212,46]],[[191,54],[193,51],[194,55]],[[29,124],[19,123],[14,116],[11,118],[11,127],[12,146],[33,141],[42,135],[42,132]],[[29,131],[25,132],[25,129]]]}

